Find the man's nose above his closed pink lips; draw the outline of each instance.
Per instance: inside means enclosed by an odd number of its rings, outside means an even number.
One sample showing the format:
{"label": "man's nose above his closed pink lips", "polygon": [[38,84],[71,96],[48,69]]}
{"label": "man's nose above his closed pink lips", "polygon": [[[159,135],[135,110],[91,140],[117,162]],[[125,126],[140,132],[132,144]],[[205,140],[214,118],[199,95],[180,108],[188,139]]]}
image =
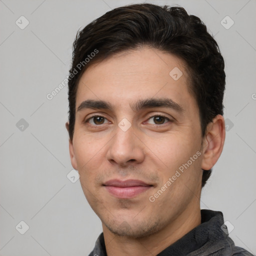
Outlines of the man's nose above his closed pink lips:
{"label": "man's nose above his closed pink lips", "polygon": [[115,135],[108,144],[107,159],[111,163],[121,166],[127,166],[133,162],[142,162],[145,156],[144,144],[139,134],[135,134],[135,129],[132,125],[126,131],[116,126],[115,131]]}

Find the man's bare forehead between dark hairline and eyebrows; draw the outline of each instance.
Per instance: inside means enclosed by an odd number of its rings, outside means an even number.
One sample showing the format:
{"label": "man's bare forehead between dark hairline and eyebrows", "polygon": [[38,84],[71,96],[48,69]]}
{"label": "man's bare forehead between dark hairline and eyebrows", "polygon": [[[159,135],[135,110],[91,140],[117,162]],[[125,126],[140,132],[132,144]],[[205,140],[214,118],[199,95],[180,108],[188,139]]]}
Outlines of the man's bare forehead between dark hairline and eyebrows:
{"label": "man's bare forehead between dark hairline and eyebrows", "polygon": [[196,105],[188,80],[185,63],[174,55],[152,48],[119,52],[85,70],[78,83],[76,109],[85,99],[127,108],[136,99],[157,97],[171,98],[185,108]]}

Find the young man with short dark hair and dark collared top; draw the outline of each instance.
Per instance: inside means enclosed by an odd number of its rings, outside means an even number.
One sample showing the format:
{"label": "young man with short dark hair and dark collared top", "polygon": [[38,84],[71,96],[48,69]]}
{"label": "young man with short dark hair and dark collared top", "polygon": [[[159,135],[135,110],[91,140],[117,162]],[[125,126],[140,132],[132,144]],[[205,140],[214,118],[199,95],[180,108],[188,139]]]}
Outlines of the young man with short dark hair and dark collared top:
{"label": "young man with short dark hair and dark collared top", "polygon": [[69,152],[103,233],[90,255],[252,255],[201,188],[225,139],[224,61],[181,7],[134,4],[84,27],[69,73]]}

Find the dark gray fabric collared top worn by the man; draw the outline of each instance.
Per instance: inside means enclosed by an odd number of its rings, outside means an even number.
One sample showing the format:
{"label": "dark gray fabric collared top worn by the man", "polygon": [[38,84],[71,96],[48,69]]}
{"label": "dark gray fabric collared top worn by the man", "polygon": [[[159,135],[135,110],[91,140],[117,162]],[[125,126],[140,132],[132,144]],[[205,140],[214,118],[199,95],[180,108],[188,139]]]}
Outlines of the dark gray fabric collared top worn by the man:
{"label": "dark gray fabric collared top worn by the man", "polygon": [[[224,223],[221,211],[201,210],[201,224],[162,250],[157,256],[253,256],[247,250],[234,245],[222,229]],[[107,256],[103,233],[95,242],[89,256]]]}

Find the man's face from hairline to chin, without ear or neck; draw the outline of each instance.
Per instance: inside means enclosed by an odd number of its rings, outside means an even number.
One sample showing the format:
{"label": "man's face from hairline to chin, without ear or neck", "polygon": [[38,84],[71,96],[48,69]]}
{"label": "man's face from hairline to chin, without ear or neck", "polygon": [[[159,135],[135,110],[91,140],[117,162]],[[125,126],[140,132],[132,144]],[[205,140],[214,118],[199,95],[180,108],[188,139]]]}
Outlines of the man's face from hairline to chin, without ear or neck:
{"label": "man's face from hairline to chin, without ear or neck", "polygon": [[[91,106],[99,100],[110,109]],[[199,110],[179,58],[142,48],[93,64],[79,80],[78,107],[71,163],[103,228],[142,237],[198,207]]]}

